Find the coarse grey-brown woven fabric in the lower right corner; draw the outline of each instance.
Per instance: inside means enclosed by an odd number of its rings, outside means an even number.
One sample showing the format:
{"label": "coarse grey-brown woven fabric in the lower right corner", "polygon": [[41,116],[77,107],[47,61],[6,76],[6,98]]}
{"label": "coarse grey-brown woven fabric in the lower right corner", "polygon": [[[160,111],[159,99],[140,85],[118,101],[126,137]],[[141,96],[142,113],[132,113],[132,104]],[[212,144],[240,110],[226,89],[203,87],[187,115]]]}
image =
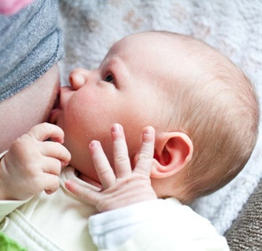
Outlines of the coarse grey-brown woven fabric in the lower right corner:
{"label": "coarse grey-brown woven fabric in the lower right corner", "polygon": [[234,224],[226,231],[230,250],[262,250],[262,179]]}

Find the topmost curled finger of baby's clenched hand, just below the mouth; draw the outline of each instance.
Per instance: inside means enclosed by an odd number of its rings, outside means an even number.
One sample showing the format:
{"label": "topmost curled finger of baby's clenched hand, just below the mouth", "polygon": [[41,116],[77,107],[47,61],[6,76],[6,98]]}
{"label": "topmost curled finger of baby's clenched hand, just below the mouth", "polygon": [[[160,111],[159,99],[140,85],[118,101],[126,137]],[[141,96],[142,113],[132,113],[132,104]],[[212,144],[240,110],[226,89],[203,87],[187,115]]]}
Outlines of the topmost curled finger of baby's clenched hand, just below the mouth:
{"label": "topmost curled finger of baby's clenched hand, just below the mouth", "polygon": [[39,141],[52,138],[52,140],[59,143],[64,142],[64,131],[60,127],[47,122],[34,126],[28,131],[28,135]]}

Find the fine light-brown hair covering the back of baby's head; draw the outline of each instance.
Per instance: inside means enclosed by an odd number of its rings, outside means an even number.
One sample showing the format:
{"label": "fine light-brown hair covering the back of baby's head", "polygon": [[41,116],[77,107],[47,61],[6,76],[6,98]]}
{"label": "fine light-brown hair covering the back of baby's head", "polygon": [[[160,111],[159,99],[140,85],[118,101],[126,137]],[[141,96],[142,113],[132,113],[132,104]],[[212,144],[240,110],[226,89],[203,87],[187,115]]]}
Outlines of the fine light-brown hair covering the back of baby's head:
{"label": "fine light-brown hair covering the back of baby's head", "polygon": [[192,82],[171,83],[175,89],[168,90],[173,93],[171,123],[194,145],[179,198],[190,203],[230,182],[249,160],[258,137],[258,98],[242,70],[208,44],[187,35],[161,34],[180,40],[179,50],[187,51],[197,69]]}

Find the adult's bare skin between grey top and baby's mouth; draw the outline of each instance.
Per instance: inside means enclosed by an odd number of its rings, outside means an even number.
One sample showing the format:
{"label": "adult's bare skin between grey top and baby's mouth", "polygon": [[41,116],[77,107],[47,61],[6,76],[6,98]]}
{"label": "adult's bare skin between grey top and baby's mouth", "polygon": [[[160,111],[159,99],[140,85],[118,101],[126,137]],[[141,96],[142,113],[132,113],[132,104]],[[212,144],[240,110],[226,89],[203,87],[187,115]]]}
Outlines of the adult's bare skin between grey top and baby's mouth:
{"label": "adult's bare skin between grey top and baby's mouth", "polygon": [[33,126],[48,120],[59,88],[60,72],[55,65],[36,82],[0,103],[0,153]]}

